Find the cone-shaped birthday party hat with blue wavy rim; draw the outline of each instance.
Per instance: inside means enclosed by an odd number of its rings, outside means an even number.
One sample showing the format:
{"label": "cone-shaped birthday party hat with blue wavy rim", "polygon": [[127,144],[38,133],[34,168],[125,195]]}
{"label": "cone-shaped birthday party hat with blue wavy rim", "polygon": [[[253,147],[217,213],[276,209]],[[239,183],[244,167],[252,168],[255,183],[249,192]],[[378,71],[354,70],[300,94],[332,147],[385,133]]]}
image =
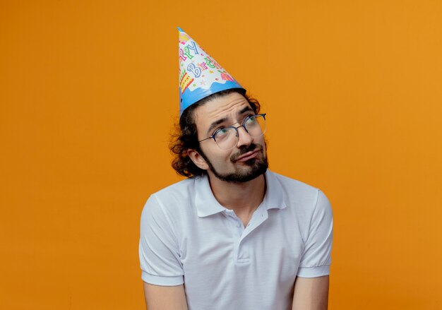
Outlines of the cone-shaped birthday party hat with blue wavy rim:
{"label": "cone-shaped birthday party hat with blue wavy rim", "polygon": [[198,43],[181,28],[179,31],[179,115],[195,102],[222,90],[239,88],[235,81]]}

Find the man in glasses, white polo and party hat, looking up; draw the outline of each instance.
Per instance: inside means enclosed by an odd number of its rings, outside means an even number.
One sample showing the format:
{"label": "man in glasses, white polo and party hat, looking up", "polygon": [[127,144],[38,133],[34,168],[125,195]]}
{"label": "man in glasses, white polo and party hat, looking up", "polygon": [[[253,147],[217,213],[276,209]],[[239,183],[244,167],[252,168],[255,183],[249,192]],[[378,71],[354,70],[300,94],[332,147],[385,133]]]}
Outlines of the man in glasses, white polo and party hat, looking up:
{"label": "man in glasses, white polo and party hat, looking up", "polygon": [[143,208],[148,309],[327,309],[328,199],[268,170],[258,101],[179,32],[181,117],[172,166],[189,178],[154,193]]}

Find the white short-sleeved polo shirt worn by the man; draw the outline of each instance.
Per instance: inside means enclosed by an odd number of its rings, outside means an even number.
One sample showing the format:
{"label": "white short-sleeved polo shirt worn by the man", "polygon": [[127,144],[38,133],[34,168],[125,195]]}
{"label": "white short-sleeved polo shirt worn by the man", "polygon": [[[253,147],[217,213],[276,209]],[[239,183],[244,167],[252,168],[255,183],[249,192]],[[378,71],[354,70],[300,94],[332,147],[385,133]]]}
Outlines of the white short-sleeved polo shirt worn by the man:
{"label": "white short-sleeved polo shirt worn by the man", "polygon": [[291,309],[297,276],[328,275],[333,215],[322,191],[267,171],[263,202],[244,227],[208,177],[148,199],[141,215],[143,281],[184,283],[190,310]]}

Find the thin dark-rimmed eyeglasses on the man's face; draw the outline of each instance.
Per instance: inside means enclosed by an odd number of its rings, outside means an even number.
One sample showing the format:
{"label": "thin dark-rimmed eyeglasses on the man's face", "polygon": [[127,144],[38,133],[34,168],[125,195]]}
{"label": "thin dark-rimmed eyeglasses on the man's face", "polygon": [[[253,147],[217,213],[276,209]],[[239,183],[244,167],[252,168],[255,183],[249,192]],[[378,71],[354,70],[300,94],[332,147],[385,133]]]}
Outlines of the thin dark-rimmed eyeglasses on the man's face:
{"label": "thin dark-rimmed eyeglasses on the man's face", "polygon": [[252,138],[258,138],[265,133],[265,113],[249,115],[242,121],[241,126],[228,126],[217,129],[212,136],[198,142],[212,138],[222,150],[234,148],[238,143],[238,129],[243,127]]}

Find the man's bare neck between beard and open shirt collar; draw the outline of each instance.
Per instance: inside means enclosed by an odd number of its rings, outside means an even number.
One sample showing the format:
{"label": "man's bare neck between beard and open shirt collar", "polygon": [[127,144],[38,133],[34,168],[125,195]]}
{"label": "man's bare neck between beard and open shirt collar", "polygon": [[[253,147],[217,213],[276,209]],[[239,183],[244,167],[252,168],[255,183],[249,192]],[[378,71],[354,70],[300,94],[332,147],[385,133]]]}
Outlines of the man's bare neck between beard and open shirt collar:
{"label": "man's bare neck between beard and open shirt collar", "polygon": [[208,174],[213,196],[222,206],[234,210],[239,217],[240,215],[251,215],[263,201],[265,195],[264,174],[244,183],[222,181],[210,172]]}

